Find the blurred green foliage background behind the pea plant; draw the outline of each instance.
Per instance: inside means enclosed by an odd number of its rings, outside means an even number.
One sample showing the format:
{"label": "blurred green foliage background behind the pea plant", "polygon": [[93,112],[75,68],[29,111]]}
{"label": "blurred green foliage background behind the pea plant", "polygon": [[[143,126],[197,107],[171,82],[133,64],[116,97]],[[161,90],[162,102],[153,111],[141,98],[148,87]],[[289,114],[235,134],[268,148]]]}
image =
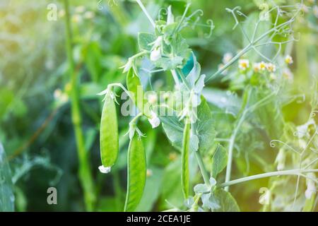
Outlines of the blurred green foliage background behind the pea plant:
{"label": "blurred green foliage background behind the pea plant", "polygon": [[[167,0],[143,2],[153,18],[158,17],[161,7],[169,5],[173,6],[175,15],[182,15],[187,3]],[[287,1],[276,2],[285,4]],[[48,20],[49,4],[57,6],[57,20]],[[245,0],[192,1],[192,12],[199,8],[204,11],[201,23],[211,18],[215,25],[213,35],[208,38],[205,36],[208,28],[204,26],[189,29],[183,34],[194,49],[204,73],[213,74],[225,52],[235,53],[244,47],[242,34],[232,30],[234,21],[225,8],[242,6],[242,11],[249,15],[259,12],[258,4],[259,1]],[[294,58],[291,90],[295,94],[310,96],[310,76],[317,78],[318,13],[313,10],[317,3],[305,1],[305,4],[310,8],[295,22],[294,28],[295,33],[300,32],[301,35],[300,40],[291,47]],[[138,52],[138,32],[151,31],[151,25],[134,1],[71,0],[69,6],[81,128],[96,197],[93,210],[119,211],[123,208],[126,191],[128,138],[123,135],[128,129],[129,118],[121,117],[119,120],[121,152],[117,165],[112,173],[100,174],[102,98],[96,93],[104,90],[109,83],[124,83],[126,76],[119,67]],[[63,1],[0,0],[0,143],[4,146],[8,163],[2,163],[0,174],[11,174],[14,206],[18,211],[87,210],[78,177],[78,154],[71,120],[71,78],[66,59],[64,18]],[[172,84],[168,79],[154,76],[153,85],[157,89],[163,88],[163,81]],[[228,89],[228,83],[222,83],[220,79],[211,80],[206,86]],[[295,124],[304,124],[308,114],[310,107],[307,99],[301,103],[290,102],[283,108],[285,120]],[[226,131],[226,126],[231,125],[217,124],[217,131]],[[141,129],[147,134],[144,141],[148,178],[137,210],[165,210],[172,208],[169,203],[182,206],[179,152],[172,148],[162,129],[153,130],[146,123],[142,124]],[[228,133],[224,132],[223,135],[226,137]],[[247,145],[244,138],[240,140],[242,143],[239,145]],[[265,163],[259,165],[256,160],[251,160],[248,172],[247,155],[237,152],[237,163],[233,169],[236,176],[232,177],[264,172],[263,166],[272,164],[277,154],[268,146],[269,143],[266,143],[262,148],[257,148],[256,155]],[[250,182],[248,186],[233,186],[232,194],[241,210],[261,208],[258,203],[259,188],[266,186],[267,182],[267,179],[262,179]],[[49,186],[57,188],[58,205],[47,204]],[[7,192],[10,194],[10,191]]]}

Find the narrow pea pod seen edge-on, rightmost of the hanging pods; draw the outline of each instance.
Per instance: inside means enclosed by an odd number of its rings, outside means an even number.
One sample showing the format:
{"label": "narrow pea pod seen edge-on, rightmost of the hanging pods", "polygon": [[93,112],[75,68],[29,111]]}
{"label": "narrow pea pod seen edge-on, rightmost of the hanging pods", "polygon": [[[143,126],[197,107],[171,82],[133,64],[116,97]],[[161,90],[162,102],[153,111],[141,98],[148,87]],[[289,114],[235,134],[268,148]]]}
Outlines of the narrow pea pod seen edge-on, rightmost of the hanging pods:
{"label": "narrow pea pod seen edge-on, rightmost of the hanging pods", "polygon": [[189,149],[190,149],[190,124],[184,125],[183,141],[182,141],[182,171],[181,184],[184,198],[189,197]]}

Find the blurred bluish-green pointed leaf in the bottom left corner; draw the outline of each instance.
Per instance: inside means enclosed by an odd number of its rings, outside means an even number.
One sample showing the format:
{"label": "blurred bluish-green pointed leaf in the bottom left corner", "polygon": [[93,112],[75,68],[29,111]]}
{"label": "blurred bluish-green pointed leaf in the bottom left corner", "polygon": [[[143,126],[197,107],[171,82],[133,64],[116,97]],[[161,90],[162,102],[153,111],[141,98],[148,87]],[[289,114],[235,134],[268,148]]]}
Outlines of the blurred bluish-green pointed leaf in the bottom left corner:
{"label": "blurred bluish-green pointed leaf in the bottom left corner", "polygon": [[6,153],[0,143],[0,212],[14,211],[14,195],[11,170]]}

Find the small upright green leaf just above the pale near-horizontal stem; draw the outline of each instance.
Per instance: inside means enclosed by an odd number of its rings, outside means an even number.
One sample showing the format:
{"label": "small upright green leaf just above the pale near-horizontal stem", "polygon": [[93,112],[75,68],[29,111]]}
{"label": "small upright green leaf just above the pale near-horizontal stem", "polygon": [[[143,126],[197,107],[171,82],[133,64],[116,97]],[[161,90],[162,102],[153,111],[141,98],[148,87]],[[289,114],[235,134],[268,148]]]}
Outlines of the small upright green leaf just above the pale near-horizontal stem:
{"label": "small upright green leaf just above the pale near-horizontal stem", "polygon": [[216,178],[220,172],[226,167],[228,162],[228,153],[223,148],[222,145],[218,145],[216,148],[216,152],[212,157],[212,167],[211,167],[211,176]]}

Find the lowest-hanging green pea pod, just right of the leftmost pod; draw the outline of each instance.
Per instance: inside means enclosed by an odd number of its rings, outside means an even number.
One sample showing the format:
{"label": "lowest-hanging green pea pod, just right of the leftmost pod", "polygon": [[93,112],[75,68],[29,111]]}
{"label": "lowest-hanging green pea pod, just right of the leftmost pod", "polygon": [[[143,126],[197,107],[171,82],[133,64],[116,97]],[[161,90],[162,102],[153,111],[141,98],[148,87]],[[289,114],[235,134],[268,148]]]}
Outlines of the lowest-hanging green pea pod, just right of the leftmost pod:
{"label": "lowest-hanging green pea pod, just right of the leftmost pod", "polygon": [[124,211],[134,211],[143,196],[146,184],[146,154],[142,141],[135,134],[128,148],[127,194]]}

